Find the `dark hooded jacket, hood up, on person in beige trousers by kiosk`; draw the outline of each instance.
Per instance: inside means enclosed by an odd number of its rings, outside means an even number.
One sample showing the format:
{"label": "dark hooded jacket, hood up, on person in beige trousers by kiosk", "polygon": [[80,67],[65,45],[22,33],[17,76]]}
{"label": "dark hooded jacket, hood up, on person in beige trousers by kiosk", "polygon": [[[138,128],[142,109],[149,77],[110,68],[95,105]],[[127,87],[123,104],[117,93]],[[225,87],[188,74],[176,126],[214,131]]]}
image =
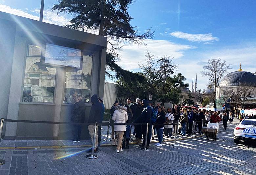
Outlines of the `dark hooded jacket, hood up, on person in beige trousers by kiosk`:
{"label": "dark hooded jacket, hood up, on person in beige trousers by kiosk", "polygon": [[96,94],[94,94],[91,97],[91,102],[93,103],[93,105],[90,110],[88,123],[95,123],[95,122],[99,123],[101,121],[103,108]]}

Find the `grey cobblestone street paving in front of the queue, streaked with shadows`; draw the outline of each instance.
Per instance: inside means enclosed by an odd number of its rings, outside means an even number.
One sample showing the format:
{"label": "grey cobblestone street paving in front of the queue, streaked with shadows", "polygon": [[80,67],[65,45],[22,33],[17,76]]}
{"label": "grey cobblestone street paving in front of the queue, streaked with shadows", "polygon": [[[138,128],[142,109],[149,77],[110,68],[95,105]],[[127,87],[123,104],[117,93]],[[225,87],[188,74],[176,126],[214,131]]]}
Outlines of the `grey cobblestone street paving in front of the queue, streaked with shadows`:
{"label": "grey cobblestone street paving in front of the queue, streaked with shadows", "polygon": [[235,126],[228,124],[224,131],[220,123],[217,141],[191,138],[178,141],[178,147],[170,141],[163,147],[151,145],[150,151],[132,145],[120,153],[114,146],[101,147],[94,160],[85,158],[84,148],[0,150],[0,159],[6,161],[0,175],[256,174],[256,147],[234,144]]}

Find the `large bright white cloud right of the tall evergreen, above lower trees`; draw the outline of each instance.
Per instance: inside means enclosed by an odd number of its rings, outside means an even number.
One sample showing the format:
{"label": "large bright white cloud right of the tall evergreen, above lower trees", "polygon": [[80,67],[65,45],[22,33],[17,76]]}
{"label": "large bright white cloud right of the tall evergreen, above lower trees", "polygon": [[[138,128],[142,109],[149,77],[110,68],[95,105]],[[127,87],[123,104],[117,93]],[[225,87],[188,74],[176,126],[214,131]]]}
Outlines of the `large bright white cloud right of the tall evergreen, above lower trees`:
{"label": "large bright white cloud right of the tall evergreen, above lower trees", "polygon": [[176,44],[167,40],[145,40],[146,45],[125,45],[121,51],[121,59],[118,62],[126,70],[138,70],[138,62],[145,61],[146,50],[156,57],[169,55],[174,59],[184,56],[183,51],[196,47]]}

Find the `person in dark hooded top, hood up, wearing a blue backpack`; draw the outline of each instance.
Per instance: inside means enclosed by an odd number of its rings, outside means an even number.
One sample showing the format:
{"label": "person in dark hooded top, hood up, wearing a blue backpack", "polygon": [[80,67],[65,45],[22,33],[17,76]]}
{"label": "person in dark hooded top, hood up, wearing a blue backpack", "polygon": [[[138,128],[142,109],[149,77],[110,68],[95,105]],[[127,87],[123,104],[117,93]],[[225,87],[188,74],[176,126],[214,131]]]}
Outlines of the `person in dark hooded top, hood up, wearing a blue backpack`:
{"label": "person in dark hooded top, hood up, wearing a blue backpack", "polygon": [[[142,110],[142,114],[141,114],[141,119],[142,119],[142,123],[148,123],[148,134],[147,134],[147,145],[146,148],[149,148],[149,142],[150,142],[150,138],[152,136],[152,123],[151,123],[151,116],[152,116],[152,109],[148,104],[148,100],[147,99],[143,99],[142,100],[142,104],[143,104],[143,110]],[[145,140],[146,140],[146,133],[147,133],[147,125],[142,125],[142,134],[143,134],[143,143],[139,146],[141,146],[142,148],[145,147]]]}

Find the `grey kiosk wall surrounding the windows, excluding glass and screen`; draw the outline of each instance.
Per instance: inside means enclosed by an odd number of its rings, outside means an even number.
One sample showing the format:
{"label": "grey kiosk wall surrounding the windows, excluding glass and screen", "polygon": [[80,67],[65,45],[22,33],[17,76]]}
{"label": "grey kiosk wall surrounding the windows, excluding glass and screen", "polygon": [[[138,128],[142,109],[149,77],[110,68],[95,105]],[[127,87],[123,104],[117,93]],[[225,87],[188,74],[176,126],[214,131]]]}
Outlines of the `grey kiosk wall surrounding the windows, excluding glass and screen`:
{"label": "grey kiosk wall surrounding the windows, excluding glass and screen", "polygon": [[[70,122],[72,104],[63,104],[65,68],[56,68],[53,103],[21,102],[26,48],[29,41],[57,39],[77,41],[93,53],[90,96],[103,96],[107,38],[53,24],[0,12],[0,117],[5,119]],[[86,104],[85,122],[90,104]],[[5,125],[6,139],[70,139],[72,125],[10,123]],[[82,138],[89,138],[83,126]]]}

